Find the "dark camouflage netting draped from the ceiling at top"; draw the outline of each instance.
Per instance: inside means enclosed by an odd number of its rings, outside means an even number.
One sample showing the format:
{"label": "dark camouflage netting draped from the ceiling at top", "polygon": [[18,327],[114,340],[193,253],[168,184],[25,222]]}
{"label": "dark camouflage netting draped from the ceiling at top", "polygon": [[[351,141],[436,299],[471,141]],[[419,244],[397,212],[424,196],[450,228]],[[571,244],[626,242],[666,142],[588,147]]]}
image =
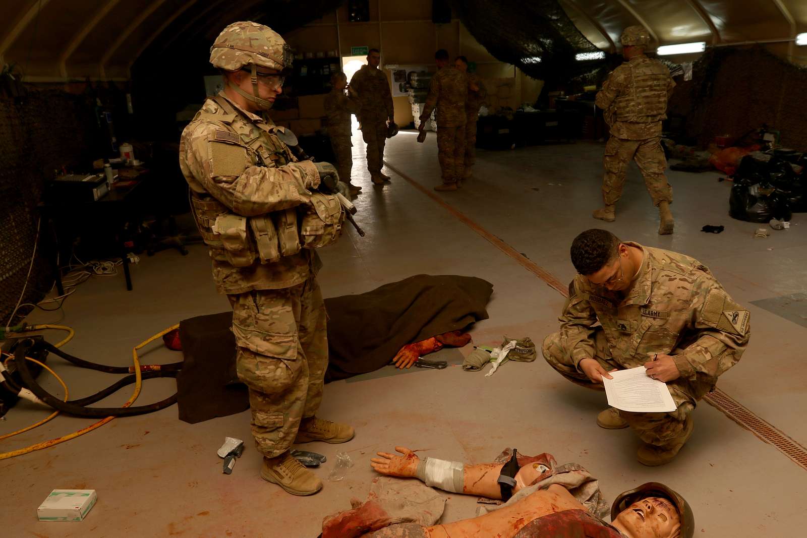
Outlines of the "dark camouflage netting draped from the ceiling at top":
{"label": "dark camouflage netting draped from the ceiling at top", "polygon": [[[517,65],[549,87],[570,81],[596,84],[619,64],[618,56],[576,61],[578,52],[598,52],[557,0],[451,2],[462,23],[497,60]],[[540,57],[540,62],[526,59]],[[609,68],[610,66],[610,68]]]}

